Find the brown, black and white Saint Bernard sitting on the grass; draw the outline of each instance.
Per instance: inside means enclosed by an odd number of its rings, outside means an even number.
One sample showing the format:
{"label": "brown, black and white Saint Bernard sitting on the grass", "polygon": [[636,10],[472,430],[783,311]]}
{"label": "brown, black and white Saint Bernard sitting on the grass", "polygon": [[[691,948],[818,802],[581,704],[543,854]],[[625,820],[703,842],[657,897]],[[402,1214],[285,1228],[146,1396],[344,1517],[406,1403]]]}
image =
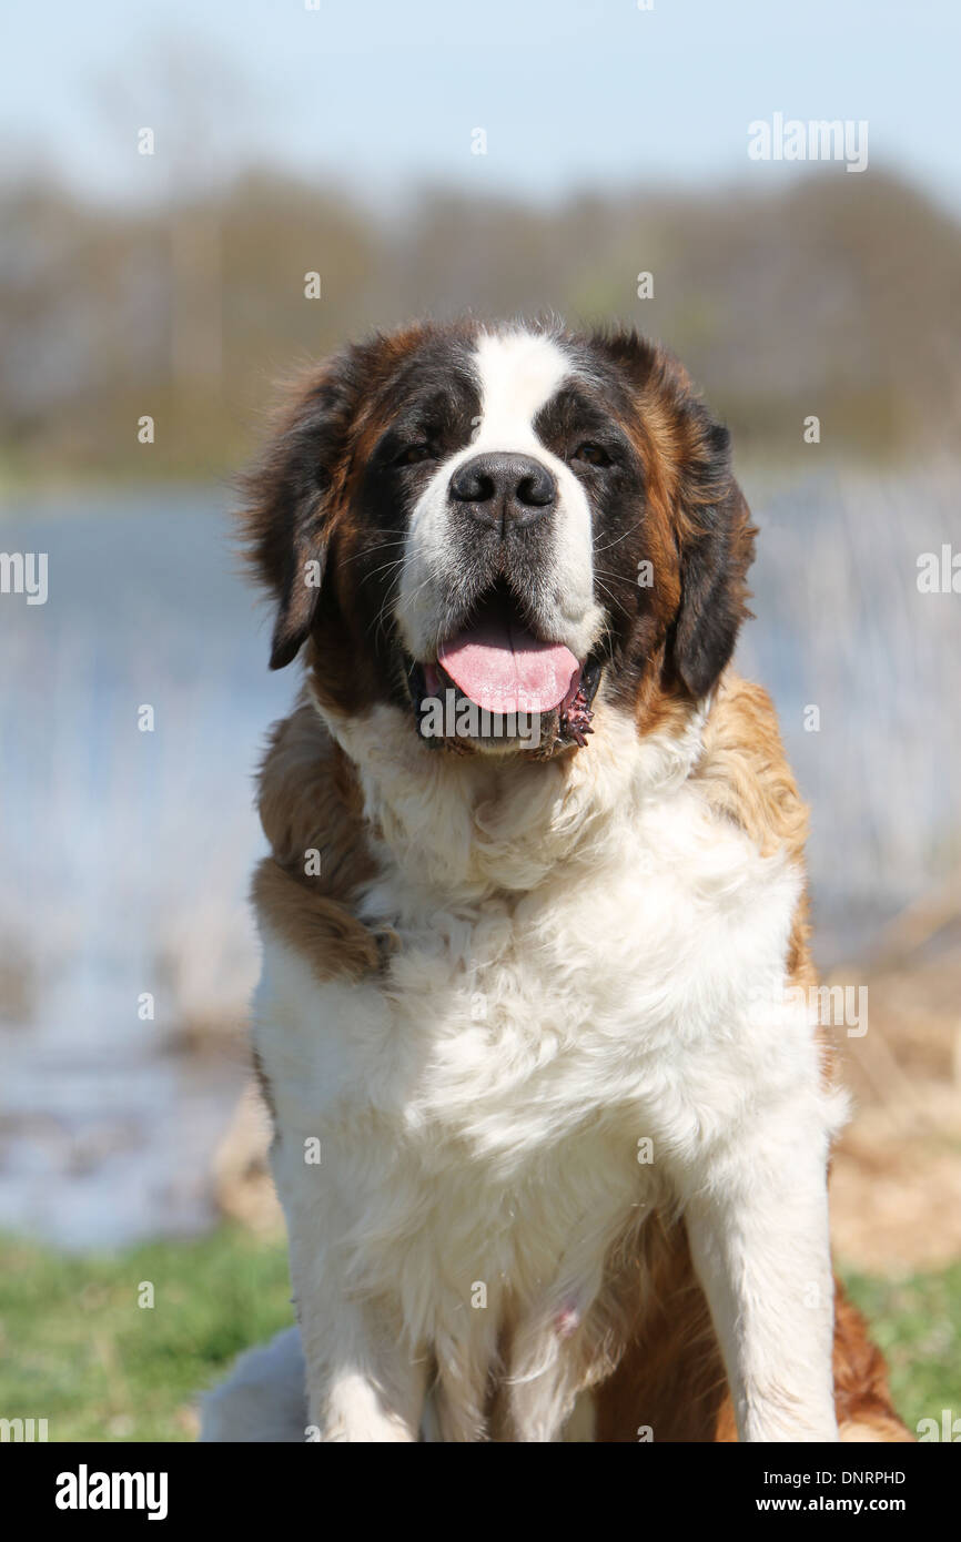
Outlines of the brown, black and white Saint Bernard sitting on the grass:
{"label": "brown, black and white Saint Bernard sitting on the grass", "polygon": [[245,481],[298,1328],[208,1440],[899,1440],[831,1275],[805,808],[730,439],[632,332],[412,325]]}

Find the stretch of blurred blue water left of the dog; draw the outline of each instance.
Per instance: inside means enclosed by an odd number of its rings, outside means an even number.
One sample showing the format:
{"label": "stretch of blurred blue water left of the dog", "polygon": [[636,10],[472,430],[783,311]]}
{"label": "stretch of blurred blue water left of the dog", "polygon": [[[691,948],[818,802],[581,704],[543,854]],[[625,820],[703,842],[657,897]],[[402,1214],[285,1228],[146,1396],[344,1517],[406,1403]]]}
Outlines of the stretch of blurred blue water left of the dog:
{"label": "stretch of blurred blue water left of the dog", "polygon": [[296,682],[267,672],[221,497],[14,509],[0,544],[49,554],[46,604],[0,598],[0,1227],[194,1231],[244,1075],[251,771]]}

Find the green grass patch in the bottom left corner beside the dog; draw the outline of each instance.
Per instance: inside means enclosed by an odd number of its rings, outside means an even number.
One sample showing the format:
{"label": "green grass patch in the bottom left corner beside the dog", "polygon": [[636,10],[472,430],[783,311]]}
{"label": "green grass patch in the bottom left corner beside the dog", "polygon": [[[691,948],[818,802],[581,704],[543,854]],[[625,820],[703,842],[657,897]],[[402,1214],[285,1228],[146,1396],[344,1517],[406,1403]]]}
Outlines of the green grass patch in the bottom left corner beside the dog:
{"label": "green grass patch in the bottom left corner beside the dog", "polygon": [[196,1394],[290,1321],[284,1247],[234,1227],[113,1255],[5,1240],[0,1417],[46,1419],[49,1440],[191,1440]]}

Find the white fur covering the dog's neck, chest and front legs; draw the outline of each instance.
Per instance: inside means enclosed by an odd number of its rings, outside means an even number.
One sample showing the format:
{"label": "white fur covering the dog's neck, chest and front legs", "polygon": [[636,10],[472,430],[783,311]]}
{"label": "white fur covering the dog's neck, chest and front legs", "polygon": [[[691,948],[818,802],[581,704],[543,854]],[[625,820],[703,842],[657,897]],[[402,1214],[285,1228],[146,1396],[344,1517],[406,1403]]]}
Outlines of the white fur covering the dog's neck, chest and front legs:
{"label": "white fur covering the dog's neck, chest and front legs", "polygon": [[836,1439],[801,874],[702,800],[700,715],[640,740],[600,702],[566,766],[430,752],[387,706],[332,728],[398,948],[321,985],[264,922],[255,1015],[321,1437],[483,1439],[494,1372],[498,1437],[561,1439],[619,1246],[683,1209],[742,1439]]}

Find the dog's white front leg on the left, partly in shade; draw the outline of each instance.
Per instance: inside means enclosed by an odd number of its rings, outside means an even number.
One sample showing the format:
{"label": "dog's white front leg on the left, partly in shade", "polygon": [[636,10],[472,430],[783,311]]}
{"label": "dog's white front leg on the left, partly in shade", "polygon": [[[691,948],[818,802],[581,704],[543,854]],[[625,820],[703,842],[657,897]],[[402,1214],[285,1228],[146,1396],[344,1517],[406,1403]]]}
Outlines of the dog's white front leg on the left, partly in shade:
{"label": "dog's white front leg on the left, partly in shade", "polygon": [[298,1170],[296,1149],[292,1156],[288,1166],[282,1156],[275,1158],[275,1175],[287,1215],[290,1278],[304,1348],[305,1437],[416,1440],[427,1357],[406,1342],[392,1301],[352,1289],[344,1268],[349,1207],[336,1192],[318,1192],[322,1180],[316,1169]]}

